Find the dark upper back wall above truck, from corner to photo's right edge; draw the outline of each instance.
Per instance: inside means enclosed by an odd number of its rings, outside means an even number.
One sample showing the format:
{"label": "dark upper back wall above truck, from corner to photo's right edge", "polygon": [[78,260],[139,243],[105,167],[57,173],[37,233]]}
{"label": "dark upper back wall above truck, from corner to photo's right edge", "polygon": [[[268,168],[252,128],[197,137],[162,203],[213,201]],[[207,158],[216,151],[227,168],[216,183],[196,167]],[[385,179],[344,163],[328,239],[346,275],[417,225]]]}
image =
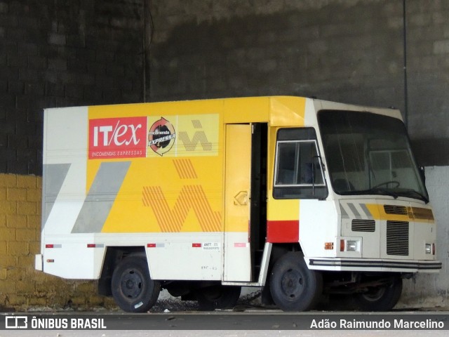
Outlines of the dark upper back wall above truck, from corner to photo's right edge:
{"label": "dark upper back wall above truck, from corner to photo's right edge", "polygon": [[449,165],[449,1],[168,0],[150,9],[152,100],[279,94],[394,106],[420,164]]}

